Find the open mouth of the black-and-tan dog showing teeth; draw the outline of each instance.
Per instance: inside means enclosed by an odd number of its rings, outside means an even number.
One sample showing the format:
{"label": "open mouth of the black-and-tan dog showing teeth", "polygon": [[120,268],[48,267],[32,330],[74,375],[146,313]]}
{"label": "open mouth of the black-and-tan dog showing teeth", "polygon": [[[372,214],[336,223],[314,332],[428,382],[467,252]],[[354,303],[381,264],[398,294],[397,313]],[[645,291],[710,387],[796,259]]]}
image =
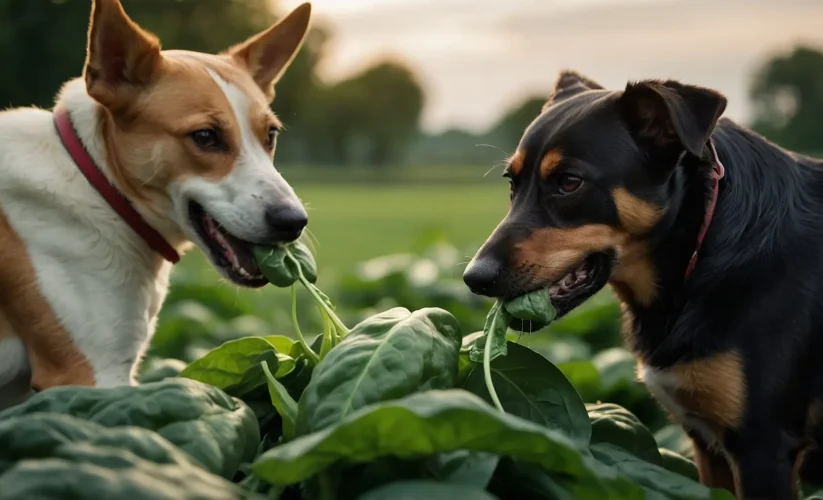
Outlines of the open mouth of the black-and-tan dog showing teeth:
{"label": "open mouth of the black-and-tan dog showing teeth", "polygon": [[[614,256],[612,252],[590,254],[562,278],[549,286],[549,297],[561,318],[599,292],[609,282]],[[546,286],[545,284],[543,286]],[[521,332],[536,332],[546,324],[512,318],[509,327]]]}

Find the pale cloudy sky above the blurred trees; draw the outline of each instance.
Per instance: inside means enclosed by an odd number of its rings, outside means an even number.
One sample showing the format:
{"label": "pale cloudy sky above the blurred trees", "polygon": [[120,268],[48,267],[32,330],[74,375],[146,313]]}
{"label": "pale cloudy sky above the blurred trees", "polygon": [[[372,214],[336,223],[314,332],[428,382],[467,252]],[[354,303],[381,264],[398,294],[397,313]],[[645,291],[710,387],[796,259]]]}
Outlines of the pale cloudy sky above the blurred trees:
{"label": "pale cloudy sky above the blurred trees", "polygon": [[[280,0],[292,8],[303,0]],[[606,88],[674,78],[751,116],[748,86],[769,56],[823,50],[821,0],[312,0],[333,33],[325,78],[402,58],[426,88],[423,127],[483,131],[564,68]]]}

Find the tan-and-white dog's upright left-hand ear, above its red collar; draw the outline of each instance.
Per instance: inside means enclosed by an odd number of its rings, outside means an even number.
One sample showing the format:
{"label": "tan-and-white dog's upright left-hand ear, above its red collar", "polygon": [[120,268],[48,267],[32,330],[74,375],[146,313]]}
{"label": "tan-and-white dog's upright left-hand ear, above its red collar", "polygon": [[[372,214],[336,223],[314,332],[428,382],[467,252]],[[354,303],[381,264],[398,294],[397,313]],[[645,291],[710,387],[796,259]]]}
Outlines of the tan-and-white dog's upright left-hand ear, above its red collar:
{"label": "tan-and-white dog's upright left-hand ear, above its red collar", "polygon": [[152,82],[160,42],[132,21],[120,0],[93,0],[83,77],[91,97],[107,107],[127,102]]}

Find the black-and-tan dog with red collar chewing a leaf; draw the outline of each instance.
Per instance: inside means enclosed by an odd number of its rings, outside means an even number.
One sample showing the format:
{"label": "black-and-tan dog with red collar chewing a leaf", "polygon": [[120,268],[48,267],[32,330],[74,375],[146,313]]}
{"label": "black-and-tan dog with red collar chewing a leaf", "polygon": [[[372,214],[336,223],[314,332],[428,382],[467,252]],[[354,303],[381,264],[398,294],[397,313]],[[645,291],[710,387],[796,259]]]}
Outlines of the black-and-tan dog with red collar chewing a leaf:
{"label": "black-and-tan dog with red collar chewing a leaf", "polygon": [[823,438],[823,162],[720,119],[725,106],[675,81],[611,91],[563,72],[464,280],[500,298],[551,287],[560,314],[610,283],[701,481],[794,498]]}

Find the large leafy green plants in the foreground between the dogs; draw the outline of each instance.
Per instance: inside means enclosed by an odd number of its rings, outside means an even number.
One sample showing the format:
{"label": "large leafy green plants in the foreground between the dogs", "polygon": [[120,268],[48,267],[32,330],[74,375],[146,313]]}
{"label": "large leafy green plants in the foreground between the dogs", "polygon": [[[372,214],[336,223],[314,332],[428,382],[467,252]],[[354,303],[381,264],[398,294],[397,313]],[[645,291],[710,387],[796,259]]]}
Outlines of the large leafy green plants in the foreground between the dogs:
{"label": "large leafy green plants in the foreground between the dogs", "polygon": [[[648,401],[628,353],[599,347],[616,322],[608,297],[521,337],[509,327],[554,319],[540,290],[493,304],[483,331],[463,335],[460,318],[474,327],[485,302],[438,295],[430,255],[402,280],[383,275],[401,295],[425,290],[420,307],[389,295],[382,312],[344,315],[359,317],[349,328],[307,248],[255,255],[291,289],[290,336],[242,306],[217,318],[183,299],[180,337],[160,339],[166,357],[145,365],[144,385],[50,389],[0,413],[0,499],[732,498],[695,481],[682,431],[653,434],[630,409],[584,403],[581,393]],[[311,329],[322,326],[310,336],[312,309]]]}

